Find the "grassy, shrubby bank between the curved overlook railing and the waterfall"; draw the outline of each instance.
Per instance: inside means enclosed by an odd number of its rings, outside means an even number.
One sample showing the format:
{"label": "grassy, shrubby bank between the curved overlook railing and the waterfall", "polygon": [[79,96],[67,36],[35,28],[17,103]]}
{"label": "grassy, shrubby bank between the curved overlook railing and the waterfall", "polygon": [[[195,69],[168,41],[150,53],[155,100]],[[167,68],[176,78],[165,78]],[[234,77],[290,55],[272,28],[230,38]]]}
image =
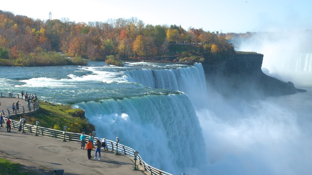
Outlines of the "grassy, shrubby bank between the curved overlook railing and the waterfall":
{"label": "grassy, shrubby bank between the curved overlook railing and the waterfall", "polygon": [[69,132],[86,134],[95,130],[88,119],[85,118],[85,111],[82,109],[73,109],[70,105],[53,105],[49,102],[39,100],[40,111],[25,116],[26,122],[30,125],[36,125],[56,130],[63,130],[64,126],[68,127]]}

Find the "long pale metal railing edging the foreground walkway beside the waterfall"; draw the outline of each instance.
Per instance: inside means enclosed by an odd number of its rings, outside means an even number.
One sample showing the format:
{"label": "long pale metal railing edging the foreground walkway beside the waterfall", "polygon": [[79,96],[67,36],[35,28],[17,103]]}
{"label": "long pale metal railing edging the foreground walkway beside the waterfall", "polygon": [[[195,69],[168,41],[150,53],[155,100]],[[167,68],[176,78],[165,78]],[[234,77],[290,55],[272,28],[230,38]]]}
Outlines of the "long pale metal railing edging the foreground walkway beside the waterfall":
{"label": "long pale metal railing edging the foreground walkway beside the waterfall", "polygon": [[[3,118],[4,123],[7,122],[6,120],[7,118]],[[13,128],[18,128],[19,122],[12,120],[11,126],[13,126]],[[36,133],[42,136],[54,137],[56,139],[64,139],[64,131],[61,131],[61,130],[54,130],[54,129],[44,128],[44,127],[29,125],[29,124],[24,124],[24,126],[22,126],[22,130],[24,130],[25,132]],[[79,133],[65,132],[65,140],[68,140],[68,141],[80,142],[80,136],[81,134]],[[89,135],[85,135],[85,136],[87,138],[89,137]],[[94,137],[94,138],[95,139],[93,140],[94,142],[93,144],[95,144],[95,141],[97,139],[102,140],[98,137]],[[116,150],[117,142],[114,142],[112,140],[106,140],[106,144],[107,144],[107,147],[111,149],[112,151],[118,151],[120,154],[134,157],[135,150],[128,146],[118,143],[118,149]],[[164,172],[160,169],[150,166],[141,158],[140,154],[137,156],[137,160],[139,160],[140,165],[144,166],[144,170],[148,171],[151,175],[172,175],[170,173]]]}

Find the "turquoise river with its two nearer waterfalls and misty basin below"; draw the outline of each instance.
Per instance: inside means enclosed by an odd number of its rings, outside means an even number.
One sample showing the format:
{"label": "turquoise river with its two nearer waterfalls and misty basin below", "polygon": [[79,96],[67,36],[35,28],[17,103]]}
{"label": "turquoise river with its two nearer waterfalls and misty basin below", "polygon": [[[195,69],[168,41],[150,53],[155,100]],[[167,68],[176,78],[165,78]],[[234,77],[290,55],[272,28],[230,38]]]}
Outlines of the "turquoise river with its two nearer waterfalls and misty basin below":
{"label": "turquoise river with its two nearer waterfalls and misty basin below", "polygon": [[312,82],[295,84],[305,93],[246,101],[207,87],[201,64],[0,69],[0,92],[82,108],[96,136],[119,137],[169,173],[312,172]]}

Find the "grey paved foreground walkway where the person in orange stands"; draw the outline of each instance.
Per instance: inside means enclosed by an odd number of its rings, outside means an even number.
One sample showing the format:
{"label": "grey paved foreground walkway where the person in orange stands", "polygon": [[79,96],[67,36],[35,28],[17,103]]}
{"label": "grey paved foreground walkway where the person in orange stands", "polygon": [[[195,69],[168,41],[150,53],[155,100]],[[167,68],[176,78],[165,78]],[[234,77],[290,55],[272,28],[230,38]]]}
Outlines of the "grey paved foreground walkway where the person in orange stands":
{"label": "grey paved foreground walkway where the person in orange stands", "polygon": [[[87,160],[87,151],[80,149],[78,142],[62,142],[46,136],[20,133],[17,129],[7,132],[0,129],[0,158],[23,164],[39,175],[53,174],[55,169],[63,169],[64,174],[109,174],[143,175],[143,171],[133,171],[133,158],[102,151],[101,160]],[[94,149],[95,150],[95,149]],[[139,167],[143,170],[143,167]],[[1,170],[0,170],[1,174]]]}

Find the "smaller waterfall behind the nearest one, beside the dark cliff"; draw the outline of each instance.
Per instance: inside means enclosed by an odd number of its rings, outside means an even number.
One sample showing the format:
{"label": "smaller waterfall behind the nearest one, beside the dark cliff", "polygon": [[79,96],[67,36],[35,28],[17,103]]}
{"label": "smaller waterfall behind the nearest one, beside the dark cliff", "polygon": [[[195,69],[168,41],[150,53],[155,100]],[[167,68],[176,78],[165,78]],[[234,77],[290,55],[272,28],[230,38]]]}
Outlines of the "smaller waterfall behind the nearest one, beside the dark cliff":
{"label": "smaller waterfall behind the nearest one, beside the dark cliff", "polygon": [[[207,106],[207,87],[202,64],[177,69],[136,69],[124,71],[127,80],[151,88],[186,93],[196,108]],[[203,98],[204,97],[204,98]]]}

